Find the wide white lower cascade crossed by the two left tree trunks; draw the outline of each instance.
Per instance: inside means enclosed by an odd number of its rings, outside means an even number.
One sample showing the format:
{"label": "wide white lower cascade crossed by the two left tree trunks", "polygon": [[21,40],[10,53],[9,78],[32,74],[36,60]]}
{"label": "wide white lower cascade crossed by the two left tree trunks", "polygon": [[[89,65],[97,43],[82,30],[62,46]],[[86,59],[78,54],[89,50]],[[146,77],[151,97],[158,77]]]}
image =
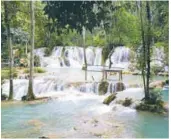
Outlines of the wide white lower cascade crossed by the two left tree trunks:
{"label": "wide white lower cascade crossed by the two left tree trunks", "polygon": [[[54,79],[35,79],[33,83],[33,91],[36,96],[48,94],[49,92],[62,91],[63,83]],[[28,80],[14,80],[14,99],[21,100],[27,94]],[[9,82],[2,85],[2,93],[9,95]]]}

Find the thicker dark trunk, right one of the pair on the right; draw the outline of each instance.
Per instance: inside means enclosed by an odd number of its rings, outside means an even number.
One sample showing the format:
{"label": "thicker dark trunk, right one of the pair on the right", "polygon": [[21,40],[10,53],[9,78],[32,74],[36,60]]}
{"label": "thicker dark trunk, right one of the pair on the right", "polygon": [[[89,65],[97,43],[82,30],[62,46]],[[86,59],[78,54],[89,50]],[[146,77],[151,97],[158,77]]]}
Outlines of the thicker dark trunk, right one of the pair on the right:
{"label": "thicker dark trunk, right one of the pair on the right", "polygon": [[149,1],[146,1],[146,12],[148,20],[148,29],[147,29],[147,99],[149,99],[149,82],[150,82],[150,47],[151,47],[151,15],[150,15],[150,4]]}

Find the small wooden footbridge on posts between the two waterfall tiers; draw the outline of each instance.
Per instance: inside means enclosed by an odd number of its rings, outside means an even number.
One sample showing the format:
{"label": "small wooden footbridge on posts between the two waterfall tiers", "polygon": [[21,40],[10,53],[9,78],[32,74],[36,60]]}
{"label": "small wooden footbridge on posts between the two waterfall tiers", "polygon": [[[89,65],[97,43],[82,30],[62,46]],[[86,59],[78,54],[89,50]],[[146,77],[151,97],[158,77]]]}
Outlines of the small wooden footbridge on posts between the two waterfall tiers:
{"label": "small wooden footbridge on posts between the two waterfall tiers", "polygon": [[101,65],[87,65],[87,71],[104,72],[105,79],[107,80],[107,73],[119,73],[119,81],[122,80],[122,71],[124,68],[101,66]]}

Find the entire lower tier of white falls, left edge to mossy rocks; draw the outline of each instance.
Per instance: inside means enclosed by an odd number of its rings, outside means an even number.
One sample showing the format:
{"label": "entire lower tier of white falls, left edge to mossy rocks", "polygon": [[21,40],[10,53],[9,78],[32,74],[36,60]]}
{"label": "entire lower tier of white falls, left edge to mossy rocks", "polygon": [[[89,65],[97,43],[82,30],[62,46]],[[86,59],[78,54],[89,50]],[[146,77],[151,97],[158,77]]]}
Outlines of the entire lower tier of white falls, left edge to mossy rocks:
{"label": "entire lower tier of white falls, left edge to mossy rocks", "polygon": [[[81,83],[78,85],[72,85],[72,83],[63,82],[62,80],[55,78],[36,78],[33,82],[33,91],[36,97],[51,96],[67,89],[84,93],[98,93],[99,83]],[[27,94],[28,80],[15,79],[14,80],[14,99],[21,100],[21,98]],[[9,81],[2,85],[2,94],[9,95]]]}

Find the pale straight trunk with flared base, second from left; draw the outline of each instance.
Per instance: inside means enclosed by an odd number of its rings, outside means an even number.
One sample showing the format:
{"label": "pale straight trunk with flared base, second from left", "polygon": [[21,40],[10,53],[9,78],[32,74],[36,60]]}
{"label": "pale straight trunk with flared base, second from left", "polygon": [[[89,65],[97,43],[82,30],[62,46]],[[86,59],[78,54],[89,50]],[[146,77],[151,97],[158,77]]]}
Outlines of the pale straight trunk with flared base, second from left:
{"label": "pale straight trunk with flared base, second from left", "polygon": [[30,1],[30,13],[31,13],[31,50],[30,50],[30,76],[29,85],[26,100],[34,100],[33,93],[33,68],[34,68],[34,2]]}

